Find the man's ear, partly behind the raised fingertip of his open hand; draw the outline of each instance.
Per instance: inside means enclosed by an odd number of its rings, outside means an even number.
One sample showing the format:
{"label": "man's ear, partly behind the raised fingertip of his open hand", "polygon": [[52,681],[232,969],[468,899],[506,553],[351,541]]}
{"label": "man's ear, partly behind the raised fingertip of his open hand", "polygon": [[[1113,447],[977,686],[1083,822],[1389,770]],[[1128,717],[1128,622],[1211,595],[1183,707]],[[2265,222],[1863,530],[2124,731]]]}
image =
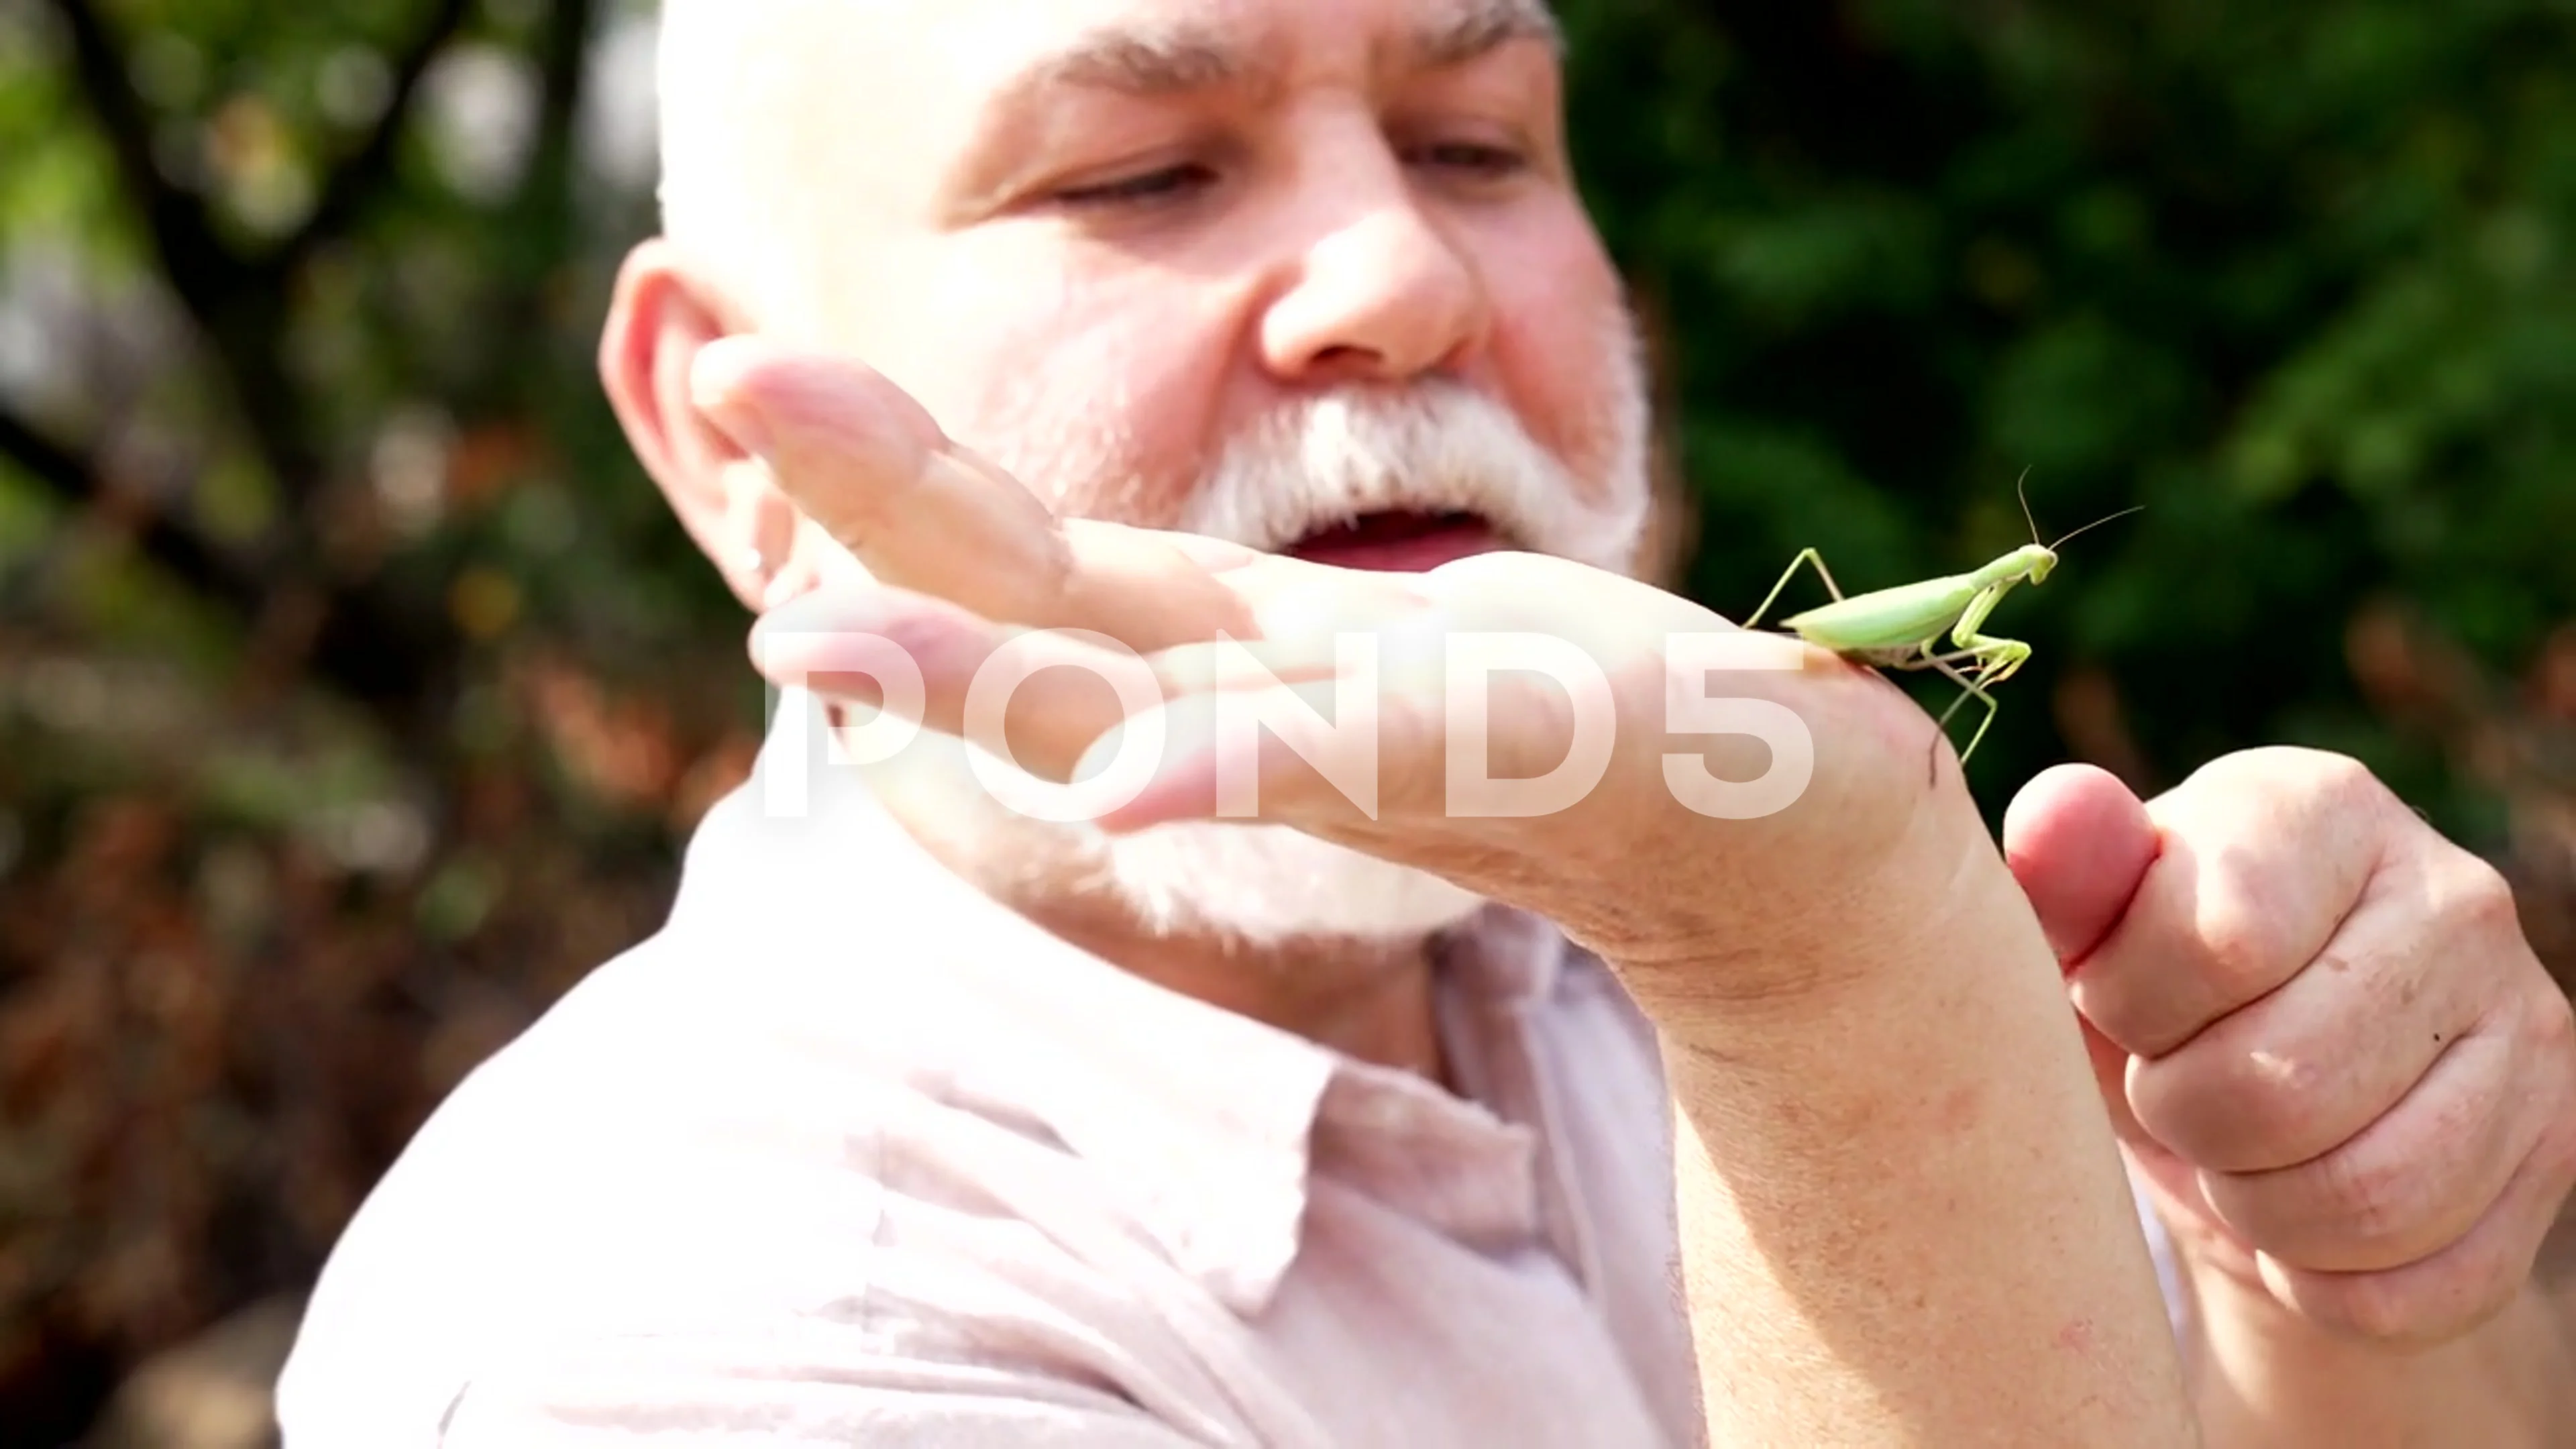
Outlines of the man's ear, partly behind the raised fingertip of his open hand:
{"label": "man's ear, partly behind the raised fingertip of his open hand", "polygon": [[760,459],[698,413],[688,384],[698,351],[742,330],[747,320],[677,248],[649,240],[618,268],[600,333],[600,382],[680,526],[757,611],[796,547],[796,505]]}

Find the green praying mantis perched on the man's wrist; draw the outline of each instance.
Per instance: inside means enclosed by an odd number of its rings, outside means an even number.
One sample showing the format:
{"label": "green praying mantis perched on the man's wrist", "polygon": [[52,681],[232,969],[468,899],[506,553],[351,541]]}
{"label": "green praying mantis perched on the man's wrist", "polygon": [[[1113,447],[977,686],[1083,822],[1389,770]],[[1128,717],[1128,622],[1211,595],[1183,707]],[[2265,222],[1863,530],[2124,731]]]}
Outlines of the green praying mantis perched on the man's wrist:
{"label": "green praying mantis perched on the man's wrist", "polygon": [[[1932,745],[1932,771],[1940,771],[1940,740],[1950,735],[1950,717],[1958,714],[1960,704],[1971,699],[1986,706],[1986,717],[1976,724],[1976,735],[1968,737],[1968,748],[1960,750],[1958,766],[1968,768],[1968,755],[1976,745],[1986,740],[1986,727],[1994,724],[1996,701],[1986,694],[1991,686],[2004,683],[2022,665],[2030,663],[2030,645],[2020,639],[1999,639],[1984,634],[1986,616],[1994,606],[2004,601],[2020,583],[2048,583],[2048,572],[2058,567],[2058,549],[2069,539],[2089,529],[2099,529],[2115,518],[2128,518],[2141,508],[2123,508],[2110,518],[2094,518],[2084,529],[2066,534],[2056,544],[2040,541],[2040,523],[2030,516],[2030,495],[2014,485],[2022,498],[2022,518],[2030,523],[2030,541],[2009,554],[1973,567],[1968,572],[1955,572],[1947,578],[1927,578],[1922,583],[1901,583],[1896,588],[1880,588],[1873,593],[1844,596],[1842,585],[1834,583],[1832,570],[1824,567],[1824,554],[1816,549],[1803,549],[1790,559],[1788,572],[1772,585],[1762,608],[1754,608],[1744,629],[1752,629],[1770,614],[1770,606],[1780,601],[1780,590],[1788,580],[1798,578],[1801,565],[1816,565],[1816,578],[1834,596],[1832,603],[1808,608],[1803,614],[1790,614],[1780,621],[1780,629],[1798,634],[1819,650],[1834,650],[1847,660],[1857,660],[1873,668],[1893,670],[1940,670],[1950,683],[1960,686],[1960,696],[1950,701],[1935,727]],[[1942,632],[1950,634],[1950,650],[1937,650]],[[1960,668],[1965,665],[1965,668]]]}

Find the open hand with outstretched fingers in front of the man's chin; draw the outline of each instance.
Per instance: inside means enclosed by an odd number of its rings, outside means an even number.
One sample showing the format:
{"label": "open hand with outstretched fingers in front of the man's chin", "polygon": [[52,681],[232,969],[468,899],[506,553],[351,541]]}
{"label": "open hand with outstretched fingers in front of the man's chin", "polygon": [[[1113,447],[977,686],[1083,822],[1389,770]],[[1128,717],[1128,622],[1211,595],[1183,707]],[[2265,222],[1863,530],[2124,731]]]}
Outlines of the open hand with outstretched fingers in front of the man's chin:
{"label": "open hand with outstretched fingers in front of the man's chin", "polygon": [[[1216,815],[1293,825],[1548,915],[1628,967],[1646,998],[1656,964],[1682,962],[1669,982],[1682,990],[1687,977],[1692,998],[1788,990],[1824,962],[1860,959],[1852,944],[1873,931],[1927,931],[1978,859],[2002,879],[1958,771],[1924,789],[1932,722],[1901,691],[1643,583],[1538,554],[1376,575],[1059,521],[868,369],[762,343],[711,348],[698,400],[873,575],[765,619],[762,673],[876,706],[884,696],[850,670],[853,642],[866,655],[891,639],[922,670],[920,719],[971,735],[974,681],[997,655],[1082,665],[1095,678],[1030,676],[994,732],[1028,773],[1069,781],[1139,730],[1162,730],[1141,792],[1100,817],[1110,830]],[[1443,645],[1479,632],[1553,639],[1558,657],[1597,670],[1582,709],[1522,673],[1489,681],[1489,781],[1564,763],[1600,771],[1558,810],[1492,812],[1486,797],[1479,815],[1476,799],[1458,799],[1453,745],[1473,727],[1448,712]],[[1360,743],[1273,709],[1296,699],[1334,712],[1350,634],[1376,639],[1383,663],[1376,815],[1342,789],[1352,768],[1368,773],[1350,753]],[[1772,755],[1749,735],[1705,732],[1713,724],[1692,719],[1705,670],[1674,655],[1674,639],[1731,642],[1716,694],[1736,696],[1734,727],[1767,706],[1762,719],[1790,717],[1798,737],[1775,735]],[[1510,652],[1497,665],[1525,668]],[[1100,686],[1121,670],[1146,683],[1146,709]],[[1244,704],[1275,724],[1249,761],[1249,815],[1226,810],[1216,750],[1221,735],[1242,737],[1221,722]],[[1793,802],[1744,820],[1703,812],[1718,781],[1798,766],[1801,743],[1811,758]],[[1710,959],[1728,967],[1710,975]]]}

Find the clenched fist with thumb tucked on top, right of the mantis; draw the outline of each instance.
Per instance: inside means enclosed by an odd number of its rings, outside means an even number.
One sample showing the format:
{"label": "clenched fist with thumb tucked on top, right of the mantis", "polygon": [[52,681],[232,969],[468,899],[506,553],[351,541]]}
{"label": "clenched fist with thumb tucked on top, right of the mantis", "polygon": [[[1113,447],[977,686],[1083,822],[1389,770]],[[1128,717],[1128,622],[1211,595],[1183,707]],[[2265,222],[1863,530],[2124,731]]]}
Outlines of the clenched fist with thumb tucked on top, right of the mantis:
{"label": "clenched fist with thumb tucked on top, right of the mantis", "polygon": [[2058,768],[2004,848],[2223,1302],[2427,1343],[2514,1299],[2576,1181],[2576,1031],[2491,866],[2313,750],[2151,804]]}

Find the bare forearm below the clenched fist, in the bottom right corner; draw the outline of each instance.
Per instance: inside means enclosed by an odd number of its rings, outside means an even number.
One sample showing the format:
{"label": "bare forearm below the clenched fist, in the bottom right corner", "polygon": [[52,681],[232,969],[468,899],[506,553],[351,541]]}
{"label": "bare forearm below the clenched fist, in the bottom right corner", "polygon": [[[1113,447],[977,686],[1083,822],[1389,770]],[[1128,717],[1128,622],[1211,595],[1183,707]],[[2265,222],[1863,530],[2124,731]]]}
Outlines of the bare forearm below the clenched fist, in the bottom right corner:
{"label": "bare forearm below the clenched fist, in the bottom right corner", "polygon": [[2202,1274],[2187,1377],[2213,1449],[2576,1444],[2566,1320],[2524,1289],[2476,1333],[2403,1351],[2331,1338],[2246,1284]]}

